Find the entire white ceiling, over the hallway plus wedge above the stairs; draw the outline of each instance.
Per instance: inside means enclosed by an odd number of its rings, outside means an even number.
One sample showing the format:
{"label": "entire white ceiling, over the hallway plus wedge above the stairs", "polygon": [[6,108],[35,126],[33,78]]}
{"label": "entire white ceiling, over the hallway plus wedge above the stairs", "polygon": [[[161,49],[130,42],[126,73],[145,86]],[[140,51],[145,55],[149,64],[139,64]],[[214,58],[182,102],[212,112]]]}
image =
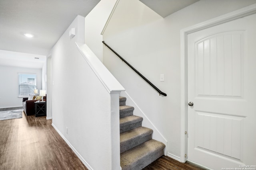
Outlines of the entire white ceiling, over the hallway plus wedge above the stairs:
{"label": "entire white ceiling, over the hallway plus wedge above the stairs", "polygon": [[[0,0],[0,65],[42,68],[46,55],[74,18],[85,17],[99,1]],[[140,1],[166,17],[198,0]]]}

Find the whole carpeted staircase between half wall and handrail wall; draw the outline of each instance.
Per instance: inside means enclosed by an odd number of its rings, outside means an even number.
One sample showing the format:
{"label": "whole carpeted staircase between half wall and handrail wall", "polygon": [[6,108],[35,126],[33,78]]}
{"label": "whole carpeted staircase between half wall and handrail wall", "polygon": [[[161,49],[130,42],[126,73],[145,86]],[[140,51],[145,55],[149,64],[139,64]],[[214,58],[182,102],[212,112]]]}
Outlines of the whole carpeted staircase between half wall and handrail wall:
{"label": "whole carpeted staircase between half wall and handrail wall", "polygon": [[119,97],[119,105],[122,170],[141,170],[164,154],[165,145],[152,139],[153,130],[142,127],[143,118],[133,115],[125,97]]}

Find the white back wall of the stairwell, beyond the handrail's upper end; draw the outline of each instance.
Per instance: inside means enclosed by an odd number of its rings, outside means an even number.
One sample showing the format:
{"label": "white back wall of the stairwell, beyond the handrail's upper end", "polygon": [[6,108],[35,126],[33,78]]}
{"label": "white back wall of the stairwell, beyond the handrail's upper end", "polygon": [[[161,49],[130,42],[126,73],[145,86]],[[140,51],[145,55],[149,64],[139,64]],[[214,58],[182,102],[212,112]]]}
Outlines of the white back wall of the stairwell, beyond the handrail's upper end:
{"label": "white back wall of the stairwell, beyond the handrail's upper end", "polygon": [[116,0],[101,0],[85,17],[85,43],[103,62],[103,45],[101,32],[110,16]]}

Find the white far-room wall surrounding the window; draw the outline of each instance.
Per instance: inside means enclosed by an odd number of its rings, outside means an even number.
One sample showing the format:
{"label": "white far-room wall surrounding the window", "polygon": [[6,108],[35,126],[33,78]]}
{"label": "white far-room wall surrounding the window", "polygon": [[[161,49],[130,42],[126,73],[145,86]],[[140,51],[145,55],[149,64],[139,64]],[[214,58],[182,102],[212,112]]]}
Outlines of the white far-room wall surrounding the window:
{"label": "white far-room wall surrounding the window", "polygon": [[36,87],[42,89],[42,69],[0,66],[0,108],[22,106],[22,98],[18,98],[19,72],[36,74]]}

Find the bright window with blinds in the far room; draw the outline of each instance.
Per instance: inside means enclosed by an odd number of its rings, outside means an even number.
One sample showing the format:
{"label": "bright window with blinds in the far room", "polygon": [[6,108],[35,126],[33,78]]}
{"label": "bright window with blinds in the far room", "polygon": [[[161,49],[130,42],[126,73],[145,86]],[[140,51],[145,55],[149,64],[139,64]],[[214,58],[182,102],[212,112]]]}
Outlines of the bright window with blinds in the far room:
{"label": "bright window with blinds in the far room", "polygon": [[19,96],[34,94],[36,74],[19,73]]}

